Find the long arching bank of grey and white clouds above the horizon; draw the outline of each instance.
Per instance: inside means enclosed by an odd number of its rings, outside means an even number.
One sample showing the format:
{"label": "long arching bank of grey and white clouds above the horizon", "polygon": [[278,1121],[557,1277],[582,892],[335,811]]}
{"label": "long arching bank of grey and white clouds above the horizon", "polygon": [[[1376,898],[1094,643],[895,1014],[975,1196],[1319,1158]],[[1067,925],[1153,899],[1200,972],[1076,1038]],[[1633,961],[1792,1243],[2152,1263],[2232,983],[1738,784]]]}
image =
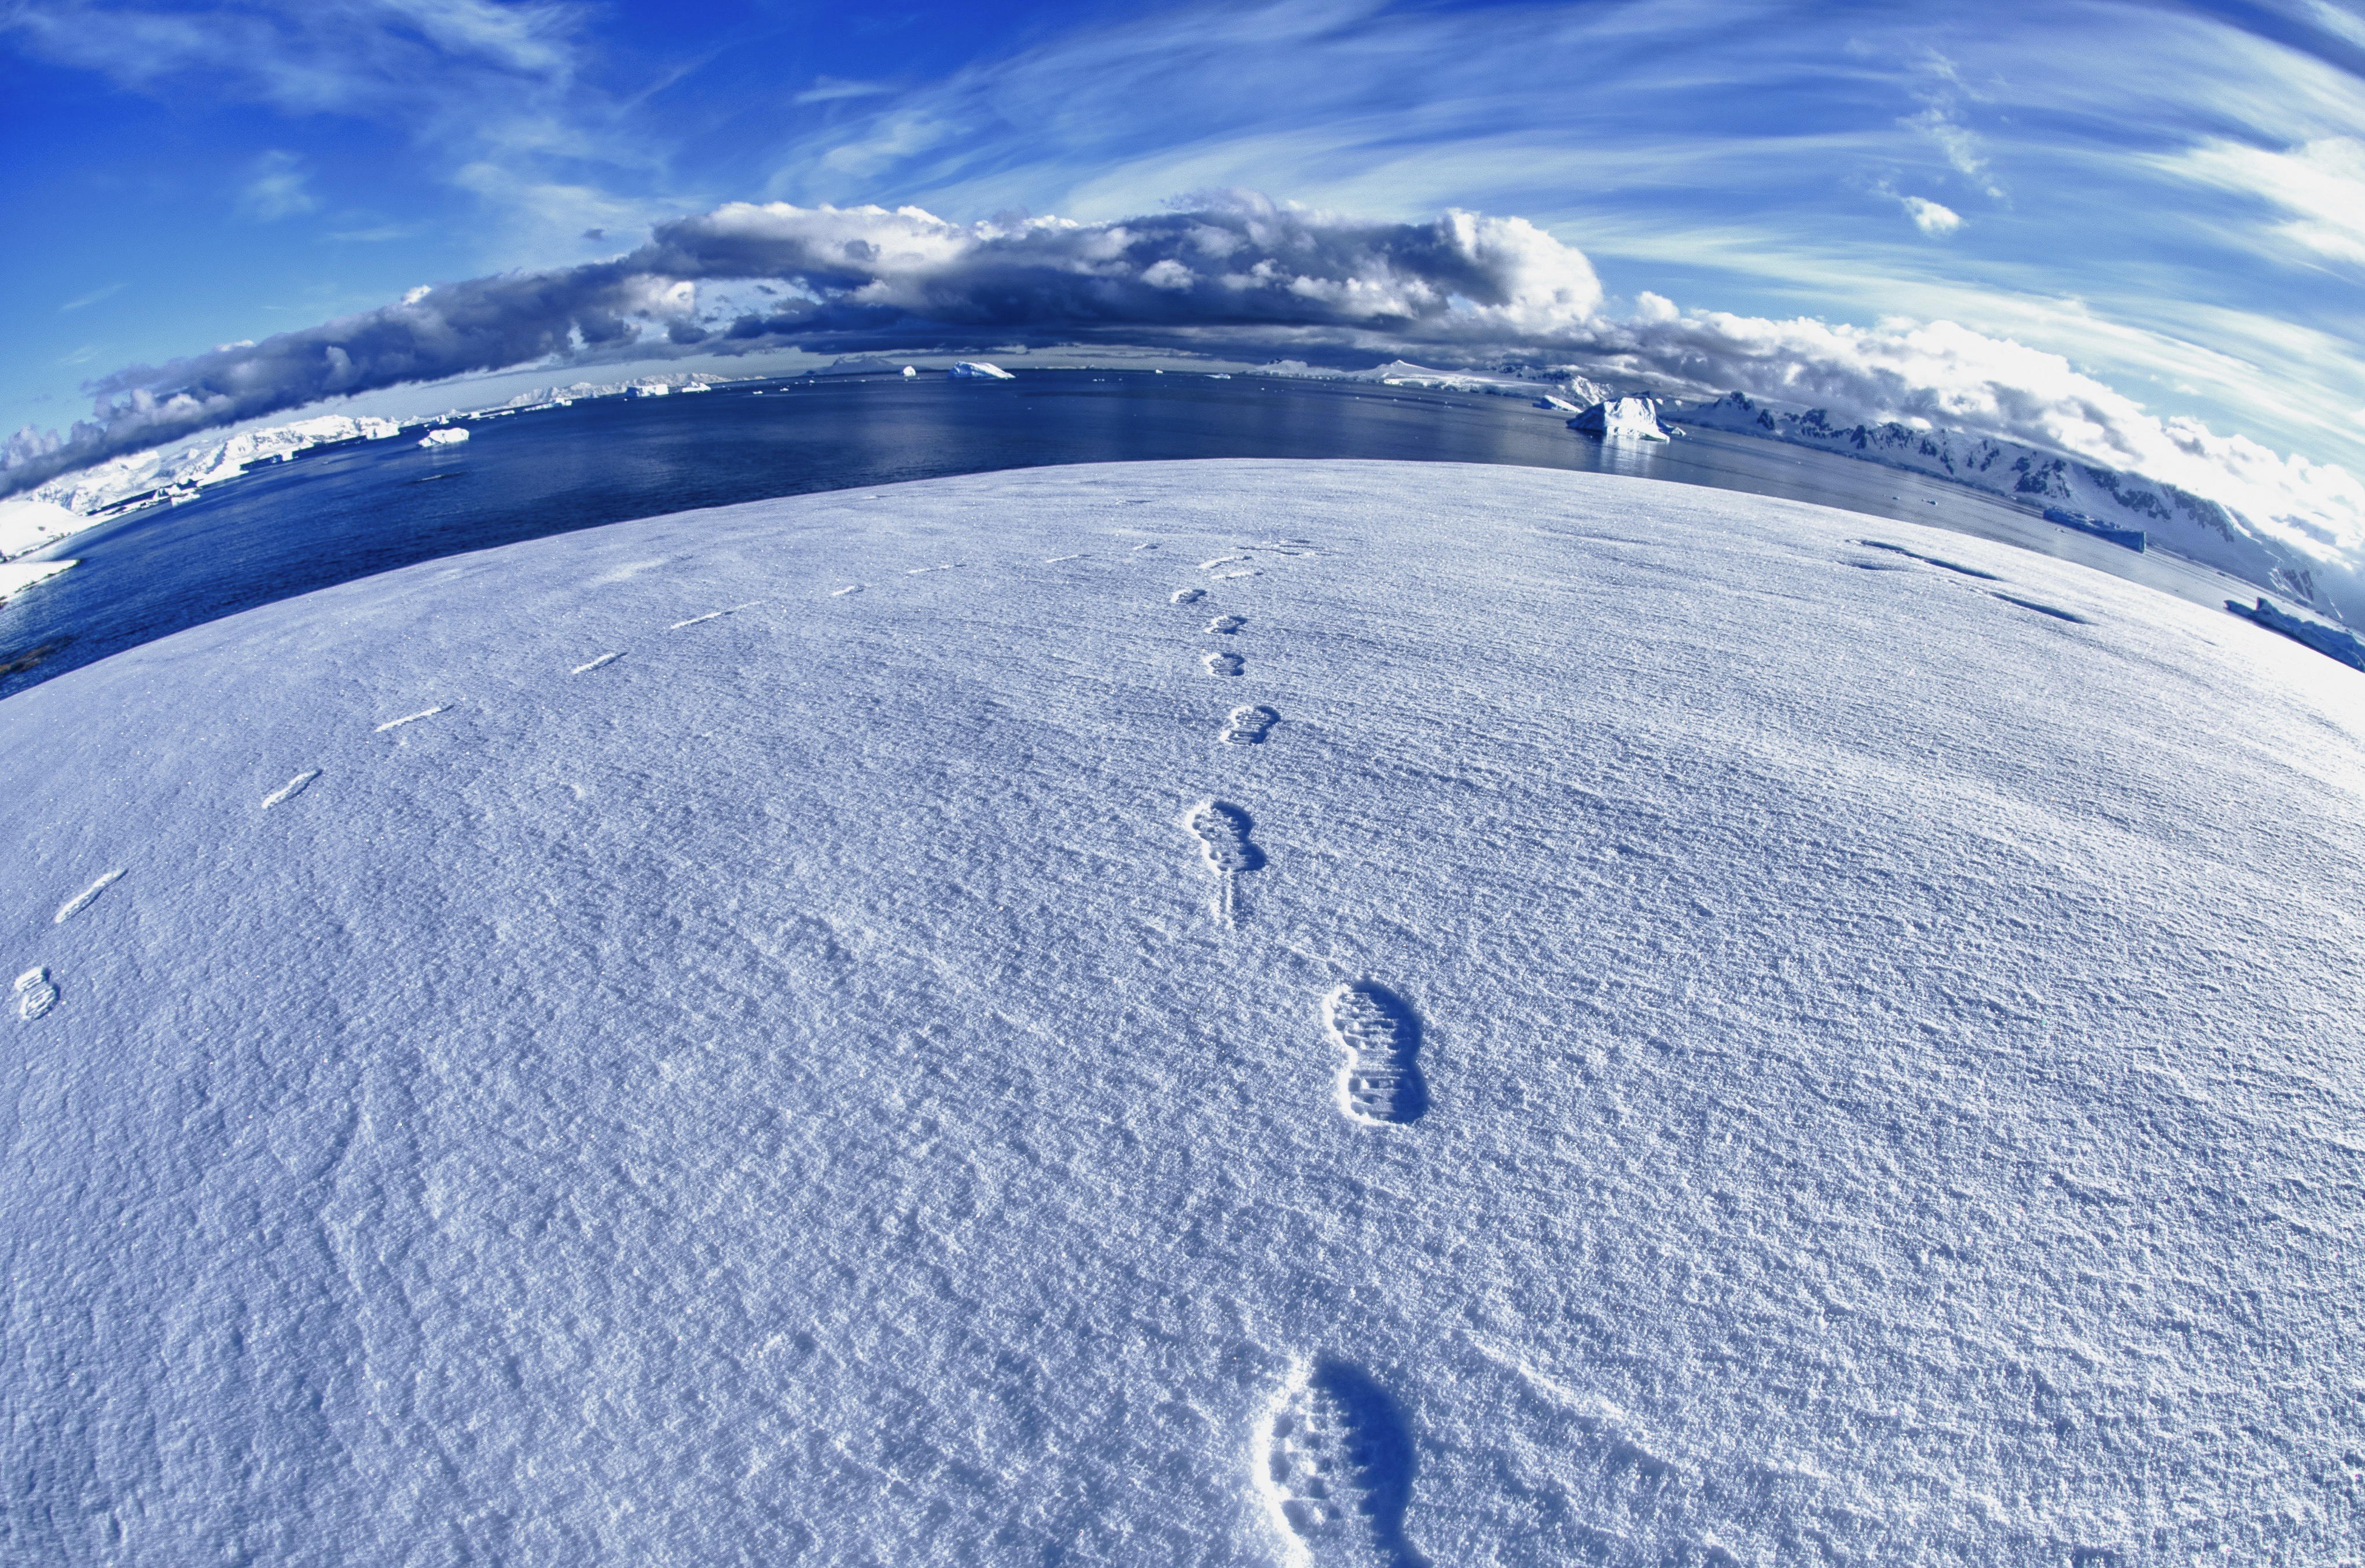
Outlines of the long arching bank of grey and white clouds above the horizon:
{"label": "long arching bank of grey and white clouds above the horizon", "polygon": [[1665,393],[1743,390],[2065,452],[2365,549],[2365,492],[2341,468],[2155,419],[2060,355],[1949,322],[1771,322],[1660,296],[1620,319],[1587,258],[1521,218],[1376,222],[1251,194],[1116,222],[731,203],[615,260],[442,284],[116,371],[64,440],[12,438],[0,487],[322,397],[532,362],[1010,341],[1551,362]]}

